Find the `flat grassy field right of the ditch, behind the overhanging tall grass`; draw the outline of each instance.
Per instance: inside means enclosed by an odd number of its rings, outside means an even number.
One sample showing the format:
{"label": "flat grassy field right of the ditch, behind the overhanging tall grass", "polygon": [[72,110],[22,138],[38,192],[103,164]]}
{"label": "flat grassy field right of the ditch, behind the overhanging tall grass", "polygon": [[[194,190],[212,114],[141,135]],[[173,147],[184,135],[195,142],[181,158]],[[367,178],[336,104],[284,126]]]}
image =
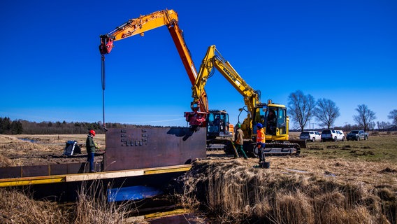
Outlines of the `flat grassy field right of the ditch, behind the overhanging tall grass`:
{"label": "flat grassy field right of the ditch, behind the overhanging tall grass", "polygon": [[[291,134],[298,138],[298,134]],[[222,151],[210,151],[208,160],[233,160]],[[243,159],[238,159],[243,160]],[[257,165],[250,158],[247,167]],[[308,142],[298,157],[268,157],[269,172],[303,176],[331,176],[345,182],[388,185],[397,192],[397,135],[374,134],[367,141]]]}

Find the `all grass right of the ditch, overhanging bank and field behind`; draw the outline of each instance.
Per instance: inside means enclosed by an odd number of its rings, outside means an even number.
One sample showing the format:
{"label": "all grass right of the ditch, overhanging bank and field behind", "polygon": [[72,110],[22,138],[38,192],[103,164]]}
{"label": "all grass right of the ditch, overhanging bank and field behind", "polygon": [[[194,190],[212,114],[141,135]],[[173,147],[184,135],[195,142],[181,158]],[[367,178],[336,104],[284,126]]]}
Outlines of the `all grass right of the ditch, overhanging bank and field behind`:
{"label": "all grass right of the ditch, overhanging bank and field behind", "polygon": [[[308,143],[299,157],[209,152],[181,197],[222,223],[397,223],[397,136]],[[194,203],[193,203],[194,202]]]}

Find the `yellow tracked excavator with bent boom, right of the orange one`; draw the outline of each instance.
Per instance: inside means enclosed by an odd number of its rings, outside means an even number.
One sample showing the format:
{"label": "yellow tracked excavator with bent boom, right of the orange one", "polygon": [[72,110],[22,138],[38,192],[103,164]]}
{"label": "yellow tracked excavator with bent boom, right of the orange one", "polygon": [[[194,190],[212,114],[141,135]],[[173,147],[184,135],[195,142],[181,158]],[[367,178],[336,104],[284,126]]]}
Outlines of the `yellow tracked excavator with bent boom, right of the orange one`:
{"label": "yellow tracked excavator with bent boom, right of the orange one", "polygon": [[[259,154],[258,149],[255,148],[255,142],[257,124],[261,123],[266,134],[265,154],[299,155],[301,152],[299,144],[289,141],[287,108],[282,104],[274,104],[271,100],[268,100],[267,103],[261,103],[261,92],[254,90],[241,78],[238,72],[233,69],[233,66],[222,57],[215,45],[211,45],[208,48],[198,71],[196,82],[192,87],[193,101],[191,103],[191,113],[194,114],[201,108],[201,95],[204,93],[204,87],[208,78],[214,73],[214,67],[243,96],[245,106],[247,107],[247,118],[241,124],[241,129],[246,138],[244,142],[245,151],[254,156]],[[231,153],[230,149],[228,147],[226,151]]]}

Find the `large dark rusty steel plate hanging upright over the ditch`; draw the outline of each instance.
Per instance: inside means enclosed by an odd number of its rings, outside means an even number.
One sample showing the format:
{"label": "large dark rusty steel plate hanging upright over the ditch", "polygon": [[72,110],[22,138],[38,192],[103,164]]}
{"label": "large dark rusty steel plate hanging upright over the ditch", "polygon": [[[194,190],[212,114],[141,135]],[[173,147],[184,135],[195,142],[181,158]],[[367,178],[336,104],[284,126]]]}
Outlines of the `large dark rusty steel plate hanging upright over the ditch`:
{"label": "large dark rusty steel plate hanging upright over the ditch", "polygon": [[205,129],[111,128],[106,132],[103,171],[166,167],[205,158]]}

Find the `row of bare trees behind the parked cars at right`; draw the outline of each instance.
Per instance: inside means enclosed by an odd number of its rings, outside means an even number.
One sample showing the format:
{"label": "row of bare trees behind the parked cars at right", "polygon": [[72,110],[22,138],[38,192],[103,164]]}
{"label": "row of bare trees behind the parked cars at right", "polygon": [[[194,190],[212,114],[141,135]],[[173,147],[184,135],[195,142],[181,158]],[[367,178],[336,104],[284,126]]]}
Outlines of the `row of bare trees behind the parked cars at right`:
{"label": "row of bare trees behind the parked cars at right", "polygon": [[[336,118],[340,116],[338,106],[331,99],[317,99],[310,94],[304,94],[301,90],[296,90],[288,96],[289,116],[303,132],[304,127],[310,119],[315,118],[319,126],[330,129],[335,123]],[[390,130],[397,126],[397,109],[390,111],[387,118],[392,122],[375,123],[375,112],[370,110],[366,104],[360,104],[356,107],[357,114],[353,116],[355,125],[345,125],[348,127],[358,127],[364,131],[374,130],[377,125],[378,130]],[[351,129],[350,129],[351,130]]]}

